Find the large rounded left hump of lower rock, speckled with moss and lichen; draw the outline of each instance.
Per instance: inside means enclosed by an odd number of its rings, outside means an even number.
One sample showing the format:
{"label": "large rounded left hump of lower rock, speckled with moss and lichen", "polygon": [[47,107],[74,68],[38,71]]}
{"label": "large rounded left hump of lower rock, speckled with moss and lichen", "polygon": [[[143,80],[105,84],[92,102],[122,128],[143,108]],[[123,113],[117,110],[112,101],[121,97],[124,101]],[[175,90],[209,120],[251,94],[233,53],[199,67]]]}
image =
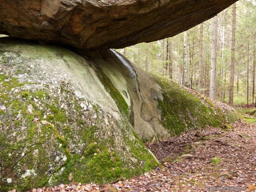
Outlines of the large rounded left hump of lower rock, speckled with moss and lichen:
{"label": "large rounded left hump of lower rock, speckled with moss and lichen", "polygon": [[159,165],[128,121],[129,103],[96,64],[8,39],[0,50],[0,191],[103,184]]}

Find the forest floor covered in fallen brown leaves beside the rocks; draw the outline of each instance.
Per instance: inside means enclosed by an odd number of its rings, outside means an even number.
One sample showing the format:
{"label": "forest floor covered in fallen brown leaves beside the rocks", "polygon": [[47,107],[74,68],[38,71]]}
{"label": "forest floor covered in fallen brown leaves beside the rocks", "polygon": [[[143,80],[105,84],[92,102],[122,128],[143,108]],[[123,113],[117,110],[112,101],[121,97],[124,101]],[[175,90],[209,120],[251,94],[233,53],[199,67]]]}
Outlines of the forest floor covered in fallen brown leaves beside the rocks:
{"label": "forest floor covered in fallen brown leaves beside the rocks", "polygon": [[[155,171],[109,185],[62,184],[39,191],[249,191],[256,184],[255,129],[256,124],[237,122],[184,133],[148,146],[162,163]],[[236,188],[225,188],[231,186]]]}

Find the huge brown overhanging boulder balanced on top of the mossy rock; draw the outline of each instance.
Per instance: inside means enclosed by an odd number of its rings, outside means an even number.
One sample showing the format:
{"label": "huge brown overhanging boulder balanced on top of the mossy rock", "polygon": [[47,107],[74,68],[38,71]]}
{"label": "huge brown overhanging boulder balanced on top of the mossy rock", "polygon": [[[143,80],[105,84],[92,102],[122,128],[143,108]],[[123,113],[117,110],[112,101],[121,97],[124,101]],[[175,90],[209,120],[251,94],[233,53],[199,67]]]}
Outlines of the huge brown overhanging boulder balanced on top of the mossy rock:
{"label": "huge brown overhanging boulder balanced on top of the mossy rock", "polygon": [[79,49],[172,37],[236,0],[0,0],[0,33]]}

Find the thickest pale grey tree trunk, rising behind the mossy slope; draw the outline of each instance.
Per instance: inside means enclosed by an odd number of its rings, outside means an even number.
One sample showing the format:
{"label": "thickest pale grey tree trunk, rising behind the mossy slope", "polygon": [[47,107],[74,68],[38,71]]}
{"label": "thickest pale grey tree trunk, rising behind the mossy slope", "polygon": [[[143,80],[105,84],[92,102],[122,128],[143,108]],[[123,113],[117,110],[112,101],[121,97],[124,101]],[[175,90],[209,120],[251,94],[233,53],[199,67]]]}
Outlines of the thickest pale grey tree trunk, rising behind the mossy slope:
{"label": "thickest pale grey tree trunk, rising behind the mossy slope", "polygon": [[211,77],[209,97],[215,99],[216,89],[216,61],[217,61],[217,33],[218,33],[218,16],[212,19],[212,44],[211,44]]}

